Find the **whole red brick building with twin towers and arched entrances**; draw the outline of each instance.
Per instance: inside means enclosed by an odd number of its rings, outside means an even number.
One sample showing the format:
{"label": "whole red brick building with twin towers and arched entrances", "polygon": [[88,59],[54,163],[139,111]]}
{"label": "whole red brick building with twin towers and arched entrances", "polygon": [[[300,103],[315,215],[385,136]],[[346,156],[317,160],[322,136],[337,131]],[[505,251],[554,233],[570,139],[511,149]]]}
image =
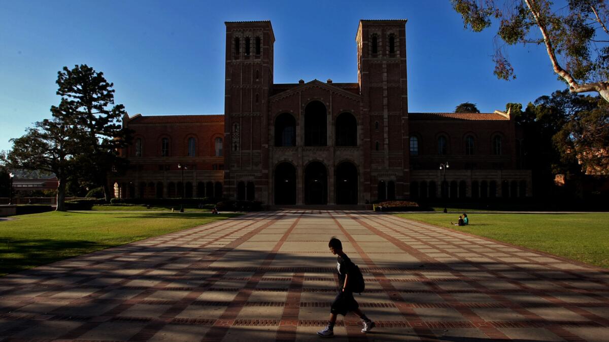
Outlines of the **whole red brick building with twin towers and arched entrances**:
{"label": "whole red brick building with twin towers and arched entrances", "polygon": [[409,113],[405,26],[359,22],[356,83],[278,84],[270,22],[226,23],[224,116],[125,117],[136,135],[115,195],[267,204],[530,196],[509,113]]}

